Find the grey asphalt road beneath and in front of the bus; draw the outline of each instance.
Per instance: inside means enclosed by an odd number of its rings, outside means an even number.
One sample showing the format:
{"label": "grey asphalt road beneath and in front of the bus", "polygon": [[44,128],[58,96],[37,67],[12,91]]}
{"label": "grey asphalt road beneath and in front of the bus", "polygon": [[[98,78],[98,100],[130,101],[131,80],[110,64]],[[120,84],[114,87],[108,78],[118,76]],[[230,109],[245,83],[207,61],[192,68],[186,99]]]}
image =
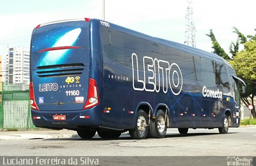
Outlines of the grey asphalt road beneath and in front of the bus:
{"label": "grey asphalt road beneath and in front of the bus", "polygon": [[256,156],[256,127],[189,129],[180,135],[168,129],[164,139],[133,140],[63,138],[1,140],[0,156]]}

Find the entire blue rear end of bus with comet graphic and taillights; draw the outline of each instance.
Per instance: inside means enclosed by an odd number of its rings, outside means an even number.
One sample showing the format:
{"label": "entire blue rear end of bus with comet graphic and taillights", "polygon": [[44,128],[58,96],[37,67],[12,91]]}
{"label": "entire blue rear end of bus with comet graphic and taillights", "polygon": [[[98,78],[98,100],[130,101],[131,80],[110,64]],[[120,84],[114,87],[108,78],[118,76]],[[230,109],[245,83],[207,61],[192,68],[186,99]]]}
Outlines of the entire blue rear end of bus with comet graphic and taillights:
{"label": "entire blue rear end of bus with comet graphic and taillights", "polygon": [[38,25],[30,45],[30,105],[34,125],[78,130],[99,126],[102,111],[90,78],[90,21]]}

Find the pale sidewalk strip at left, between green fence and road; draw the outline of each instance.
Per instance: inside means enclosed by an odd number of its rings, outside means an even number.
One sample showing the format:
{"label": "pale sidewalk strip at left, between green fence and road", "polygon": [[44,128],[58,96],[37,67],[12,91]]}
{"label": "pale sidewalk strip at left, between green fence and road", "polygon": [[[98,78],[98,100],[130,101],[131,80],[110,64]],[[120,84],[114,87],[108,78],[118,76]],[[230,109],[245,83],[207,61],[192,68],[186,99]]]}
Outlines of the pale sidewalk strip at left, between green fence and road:
{"label": "pale sidewalk strip at left, between green fence and road", "polygon": [[72,130],[18,130],[0,131],[0,140],[21,140],[21,139],[56,139],[79,137],[76,131]]}

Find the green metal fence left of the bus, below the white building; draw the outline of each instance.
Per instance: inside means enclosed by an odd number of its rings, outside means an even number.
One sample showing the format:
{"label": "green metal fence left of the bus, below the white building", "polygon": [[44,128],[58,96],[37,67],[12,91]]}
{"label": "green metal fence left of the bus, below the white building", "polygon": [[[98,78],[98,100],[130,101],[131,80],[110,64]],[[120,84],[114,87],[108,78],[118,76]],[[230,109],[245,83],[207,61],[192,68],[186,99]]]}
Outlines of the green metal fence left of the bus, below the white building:
{"label": "green metal fence left of the bus, below the white building", "polygon": [[31,120],[29,84],[0,82],[0,129],[39,129]]}

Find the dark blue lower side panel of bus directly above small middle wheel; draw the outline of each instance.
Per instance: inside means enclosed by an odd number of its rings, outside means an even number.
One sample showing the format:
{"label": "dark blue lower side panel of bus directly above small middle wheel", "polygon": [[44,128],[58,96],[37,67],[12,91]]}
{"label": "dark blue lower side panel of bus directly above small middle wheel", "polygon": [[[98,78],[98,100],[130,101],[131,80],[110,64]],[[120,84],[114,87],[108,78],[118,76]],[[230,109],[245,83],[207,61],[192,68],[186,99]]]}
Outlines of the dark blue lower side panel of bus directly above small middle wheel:
{"label": "dark blue lower side panel of bus directly above small middle wheel", "polygon": [[179,128],[194,127],[195,105],[192,98],[181,97],[179,99]]}

